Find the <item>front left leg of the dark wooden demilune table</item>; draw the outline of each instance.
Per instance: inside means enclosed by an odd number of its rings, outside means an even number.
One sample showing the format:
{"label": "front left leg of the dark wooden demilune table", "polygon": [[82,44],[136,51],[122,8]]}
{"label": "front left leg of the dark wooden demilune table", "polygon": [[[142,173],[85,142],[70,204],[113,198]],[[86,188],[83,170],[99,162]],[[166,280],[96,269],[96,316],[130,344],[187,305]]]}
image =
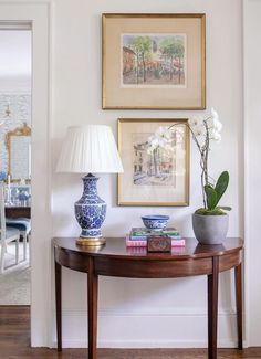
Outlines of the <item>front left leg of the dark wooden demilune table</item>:
{"label": "front left leg of the dark wooden demilune table", "polygon": [[97,358],[97,292],[98,278],[94,273],[94,260],[88,260],[87,303],[88,303],[88,359]]}

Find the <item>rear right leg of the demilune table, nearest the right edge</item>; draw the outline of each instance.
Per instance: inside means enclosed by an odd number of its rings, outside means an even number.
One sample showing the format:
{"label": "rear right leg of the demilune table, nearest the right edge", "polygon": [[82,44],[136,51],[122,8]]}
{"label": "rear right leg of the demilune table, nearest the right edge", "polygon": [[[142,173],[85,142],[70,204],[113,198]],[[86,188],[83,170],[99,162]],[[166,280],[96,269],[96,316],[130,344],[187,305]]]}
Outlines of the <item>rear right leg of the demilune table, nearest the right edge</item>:
{"label": "rear right leg of the demilune table, nearest the right edge", "polygon": [[242,265],[241,263],[234,267],[234,285],[236,285],[236,306],[237,306],[237,328],[238,328],[238,349],[243,349],[242,339]]}

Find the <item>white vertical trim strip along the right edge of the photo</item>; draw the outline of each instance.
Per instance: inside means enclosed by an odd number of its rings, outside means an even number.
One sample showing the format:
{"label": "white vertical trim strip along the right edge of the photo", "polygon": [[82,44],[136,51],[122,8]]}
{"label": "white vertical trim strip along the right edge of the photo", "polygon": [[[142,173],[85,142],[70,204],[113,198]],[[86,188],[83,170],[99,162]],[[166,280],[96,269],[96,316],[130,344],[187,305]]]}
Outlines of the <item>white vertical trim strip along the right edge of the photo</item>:
{"label": "white vertical trim strip along the right edge of the photo", "polygon": [[261,345],[261,1],[244,0],[246,303],[249,346]]}

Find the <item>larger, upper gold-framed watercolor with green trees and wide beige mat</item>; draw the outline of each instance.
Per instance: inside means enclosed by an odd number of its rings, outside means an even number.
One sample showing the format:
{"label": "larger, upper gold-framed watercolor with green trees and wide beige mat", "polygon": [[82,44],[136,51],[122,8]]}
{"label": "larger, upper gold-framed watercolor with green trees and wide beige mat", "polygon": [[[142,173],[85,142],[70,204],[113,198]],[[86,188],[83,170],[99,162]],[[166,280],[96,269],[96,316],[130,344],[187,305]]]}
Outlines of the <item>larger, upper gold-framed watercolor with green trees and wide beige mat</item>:
{"label": "larger, upper gold-framed watercolor with green trees and wide beige mat", "polygon": [[205,14],[103,14],[103,108],[206,108]]}

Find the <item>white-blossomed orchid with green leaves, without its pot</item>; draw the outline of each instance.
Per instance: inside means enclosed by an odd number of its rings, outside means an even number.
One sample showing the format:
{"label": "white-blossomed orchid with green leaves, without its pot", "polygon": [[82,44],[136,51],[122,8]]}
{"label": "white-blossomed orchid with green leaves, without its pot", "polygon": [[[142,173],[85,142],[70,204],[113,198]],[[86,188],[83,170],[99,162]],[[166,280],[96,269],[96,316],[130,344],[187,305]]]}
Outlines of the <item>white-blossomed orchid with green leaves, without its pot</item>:
{"label": "white-blossomed orchid with green leaves, without its pot", "polygon": [[[156,133],[149,137],[148,151],[153,151],[156,148],[170,149],[173,136],[175,133],[176,141],[180,140],[181,134],[178,129],[175,129],[177,124],[170,127],[159,127]],[[223,171],[217,181],[215,181],[208,172],[208,160],[210,146],[213,141],[219,142],[221,140],[222,124],[219,120],[218,113],[212,108],[211,115],[203,118],[201,116],[192,117],[186,124],[191,133],[192,139],[200,154],[200,167],[201,167],[201,189],[203,208],[198,209],[195,213],[203,215],[221,215],[226,214],[226,211],[230,211],[230,207],[218,205],[221,197],[226,192],[229,183],[229,173]]]}

